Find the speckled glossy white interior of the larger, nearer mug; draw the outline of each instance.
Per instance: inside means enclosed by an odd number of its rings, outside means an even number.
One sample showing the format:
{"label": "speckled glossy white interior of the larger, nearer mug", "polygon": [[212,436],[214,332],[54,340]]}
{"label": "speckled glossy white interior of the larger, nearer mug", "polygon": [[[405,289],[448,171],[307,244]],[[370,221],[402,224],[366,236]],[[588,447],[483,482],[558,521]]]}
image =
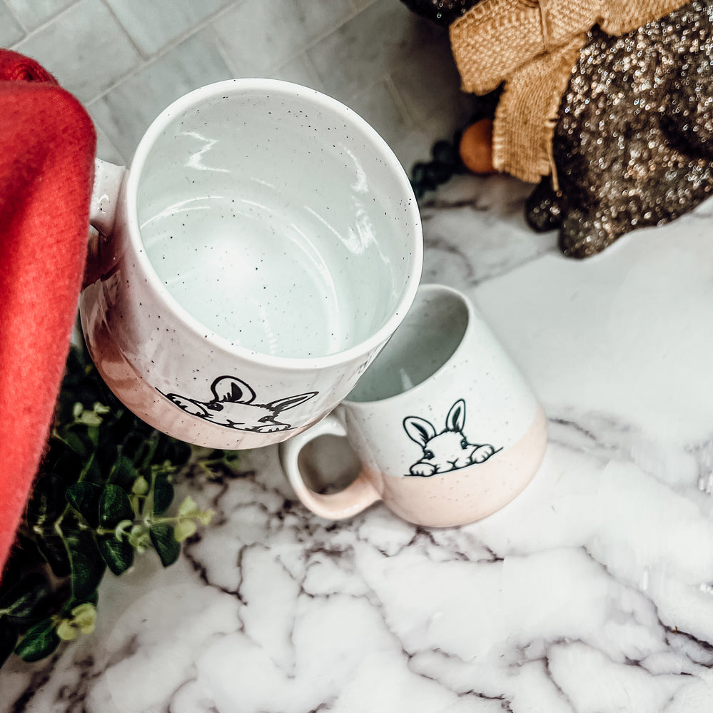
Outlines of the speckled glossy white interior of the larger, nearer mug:
{"label": "speckled glossy white interior of the larger, nearer mug", "polygon": [[367,123],[316,91],[213,88],[169,107],[132,166],[158,279],[198,323],[261,354],[314,358],[368,340],[420,271],[403,168]]}

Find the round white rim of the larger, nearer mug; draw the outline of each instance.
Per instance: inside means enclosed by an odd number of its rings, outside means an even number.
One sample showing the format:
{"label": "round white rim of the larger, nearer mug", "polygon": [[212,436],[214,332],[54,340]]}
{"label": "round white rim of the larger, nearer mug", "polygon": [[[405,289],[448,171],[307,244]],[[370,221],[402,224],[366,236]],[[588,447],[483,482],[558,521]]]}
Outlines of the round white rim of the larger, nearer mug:
{"label": "round white rim of the larger, nearer mug", "polygon": [[[193,315],[191,315],[191,313],[189,313],[188,310],[186,310],[186,308],[184,308],[183,305],[181,305],[181,303],[173,297],[171,292],[166,288],[166,285],[163,284],[161,278],[158,277],[158,273],[153,267],[153,263],[151,263],[151,260],[148,258],[146,248],[144,247],[141,239],[141,228],[138,223],[138,185],[143,171],[143,166],[145,166],[146,159],[148,158],[148,154],[151,152],[151,149],[164,128],[168,126],[168,123],[170,123],[171,119],[176,116],[176,114],[186,111],[186,109],[191,106],[195,106],[196,103],[199,103],[204,99],[226,93],[226,91],[231,93],[241,93],[244,91],[256,90],[264,91],[266,93],[282,93],[283,95],[288,96],[305,96],[309,98],[310,101],[314,101],[315,103],[323,106],[325,109],[341,114],[345,120],[350,122],[351,125],[358,128],[365,138],[368,138],[375,153],[378,152],[378,155],[383,158],[385,163],[393,168],[394,178],[400,188],[403,189],[405,198],[408,199],[407,216],[411,220],[415,239],[408,256],[411,263],[408,270],[409,278],[405,284],[403,293],[400,295],[400,298],[395,305],[395,310],[390,317],[385,320],[380,328],[378,328],[378,330],[376,330],[368,338],[360,341],[358,344],[350,346],[347,349],[343,349],[332,354],[309,357],[279,356],[266,354],[231,342],[231,340],[223,337],[223,335],[217,333],[215,330],[203,325],[200,320],[193,317]],[[156,116],[141,137],[141,141],[139,141],[136,151],[133,154],[133,158],[131,159],[128,176],[126,177],[124,185],[124,196],[128,240],[131,243],[136,260],[141,264],[143,273],[155,293],[157,293],[164,303],[168,305],[171,311],[178,316],[181,323],[195,335],[200,336],[201,338],[207,338],[213,345],[221,348],[230,355],[257,363],[261,366],[285,370],[323,369],[329,368],[330,366],[349,363],[352,360],[371,353],[373,350],[385,343],[389,336],[393,334],[398,325],[400,325],[403,321],[405,315],[408,313],[410,305],[413,303],[416,291],[419,287],[420,275],[423,270],[423,228],[421,225],[418,202],[403,166],[397,156],[395,156],[392,148],[390,148],[388,143],[386,143],[383,137],[380,136],[378,131],[376,131],[370,123],[365,121],[365,119],[363,119],[353,109],[333,97],[300,84],[280,79],[266,78],[226,79],[223,81],[213,82],[212,84],[206,84],[198,87],[198,89],[193,89],[193,91],[183,94],[183,96],[170,103],[163,109],[163,111],[161,111],[161,113],[158,114],[158,116]]]}

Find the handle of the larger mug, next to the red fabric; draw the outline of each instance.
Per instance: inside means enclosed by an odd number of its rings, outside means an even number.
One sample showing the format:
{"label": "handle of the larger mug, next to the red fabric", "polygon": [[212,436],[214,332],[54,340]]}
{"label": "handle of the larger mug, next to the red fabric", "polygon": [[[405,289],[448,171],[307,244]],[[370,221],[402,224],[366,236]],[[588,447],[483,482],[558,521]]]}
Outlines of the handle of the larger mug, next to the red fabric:
{"label": "handle of the larger mug, next to the red fabric", "polygon": [[108,161],[102,161],[101,158],[94,159],[94,183],[89,203],[90,227],[83,289],[96,282],[106,270],[101,251],[106,238],[113,233],[116,207],[124,176],[126,176],[124,166],[115,166]]}

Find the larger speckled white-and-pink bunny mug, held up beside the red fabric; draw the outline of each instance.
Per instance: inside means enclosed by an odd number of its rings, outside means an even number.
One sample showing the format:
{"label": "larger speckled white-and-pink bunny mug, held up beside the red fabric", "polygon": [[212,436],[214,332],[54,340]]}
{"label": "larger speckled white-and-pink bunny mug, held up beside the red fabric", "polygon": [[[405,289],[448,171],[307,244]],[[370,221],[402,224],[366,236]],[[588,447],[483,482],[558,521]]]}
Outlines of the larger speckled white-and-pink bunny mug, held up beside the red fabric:
{"label": "larger speckled white-and-pink bunny mug, held up beside the red fabric", "polygon": [[408,177],[343,104],[236,79],[178,99],[131,168],[99,162],[81,324],[146,422],[208,447],[277,443],[353,388],[423,259]]}

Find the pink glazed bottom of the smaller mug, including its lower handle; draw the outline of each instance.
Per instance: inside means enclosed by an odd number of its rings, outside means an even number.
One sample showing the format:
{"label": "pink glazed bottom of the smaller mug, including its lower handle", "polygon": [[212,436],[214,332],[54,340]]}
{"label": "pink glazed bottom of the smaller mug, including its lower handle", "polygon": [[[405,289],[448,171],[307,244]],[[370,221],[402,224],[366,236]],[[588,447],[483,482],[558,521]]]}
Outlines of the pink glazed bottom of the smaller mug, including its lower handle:
{"label": "pink glazed bottom of the smaller mug, including its lower handle", "polygon": [[[324,433],[344,435],[344,430],[334,421]],[[525,490],[546,447],[547,420],[537,408],[532,425],[517,443],[478,465],[430,477],[363,470],[345,490],[329,495],[313,492],[301,478],[290,477],[290,482],[304,505],[330,520],[353,517],[383,500],[391,512],[415,525],[455,527],[492,515]]]}

